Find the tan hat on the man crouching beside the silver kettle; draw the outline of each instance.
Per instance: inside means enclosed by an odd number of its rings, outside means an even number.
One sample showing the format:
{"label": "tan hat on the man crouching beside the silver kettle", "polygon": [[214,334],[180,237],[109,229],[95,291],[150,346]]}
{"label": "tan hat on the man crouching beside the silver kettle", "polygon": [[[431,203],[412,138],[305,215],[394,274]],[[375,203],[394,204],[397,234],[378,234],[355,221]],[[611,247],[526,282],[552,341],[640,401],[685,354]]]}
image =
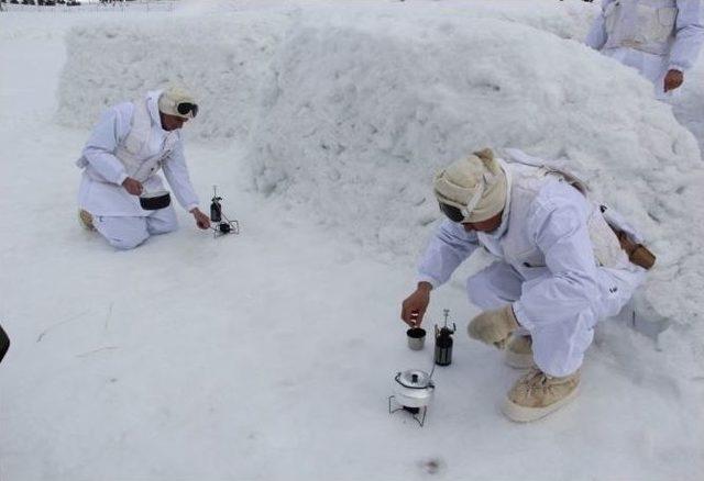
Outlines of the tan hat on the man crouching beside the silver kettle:
{"label": "tan hat on the man crouching beside the silver kettle", "polygon": [[506,205],[506,175],[488,148],[440,170],[433,190],[440,203],[462,211],[462,222],[486,221]]}

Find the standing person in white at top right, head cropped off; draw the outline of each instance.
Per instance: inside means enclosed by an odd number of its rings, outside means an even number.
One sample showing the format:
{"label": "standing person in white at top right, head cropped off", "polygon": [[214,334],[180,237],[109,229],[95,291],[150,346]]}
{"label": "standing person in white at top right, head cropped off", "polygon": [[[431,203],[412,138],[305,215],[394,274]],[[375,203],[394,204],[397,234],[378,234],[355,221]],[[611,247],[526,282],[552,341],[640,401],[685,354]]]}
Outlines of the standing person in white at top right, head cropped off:
{"label": "standing person in white at top right, head cropped off", "polygon": [[684,81],[704,41],[701,0],[603,0],[586,44],[636,68],[656,96]]}

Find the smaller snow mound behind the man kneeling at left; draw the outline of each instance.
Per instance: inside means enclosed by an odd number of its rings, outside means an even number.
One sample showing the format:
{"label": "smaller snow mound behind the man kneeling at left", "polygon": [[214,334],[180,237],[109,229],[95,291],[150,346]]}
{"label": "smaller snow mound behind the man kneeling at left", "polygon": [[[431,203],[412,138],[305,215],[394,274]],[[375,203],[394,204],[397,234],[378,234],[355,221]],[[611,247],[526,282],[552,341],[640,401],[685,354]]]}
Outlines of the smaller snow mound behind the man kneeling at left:
{"label": "smaller snow mound behind the man kneeling at left", "polygon": [[90,128],[106,108],[175,82],[200,103],[200,115],[186,130],[189,137],[245,138],[262,69],[285,21],[285,14],[240,14],[76,26],[66,37],[58,120]]}

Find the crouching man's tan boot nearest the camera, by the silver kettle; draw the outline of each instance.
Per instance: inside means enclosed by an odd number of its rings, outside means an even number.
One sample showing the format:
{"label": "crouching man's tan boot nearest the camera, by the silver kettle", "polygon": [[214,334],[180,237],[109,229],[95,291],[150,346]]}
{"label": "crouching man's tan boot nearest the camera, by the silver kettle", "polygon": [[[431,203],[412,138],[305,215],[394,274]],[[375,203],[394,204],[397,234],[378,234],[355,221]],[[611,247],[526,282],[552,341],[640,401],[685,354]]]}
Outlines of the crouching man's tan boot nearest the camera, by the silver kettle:
{"label": "crouching man's tan boot nearest the camera, by the silver kettle", "polygon": [[528,423],[568,404],[578,394],[580,371],[563,378],[531,369],[506,394],[502,411],[512,421]]}

